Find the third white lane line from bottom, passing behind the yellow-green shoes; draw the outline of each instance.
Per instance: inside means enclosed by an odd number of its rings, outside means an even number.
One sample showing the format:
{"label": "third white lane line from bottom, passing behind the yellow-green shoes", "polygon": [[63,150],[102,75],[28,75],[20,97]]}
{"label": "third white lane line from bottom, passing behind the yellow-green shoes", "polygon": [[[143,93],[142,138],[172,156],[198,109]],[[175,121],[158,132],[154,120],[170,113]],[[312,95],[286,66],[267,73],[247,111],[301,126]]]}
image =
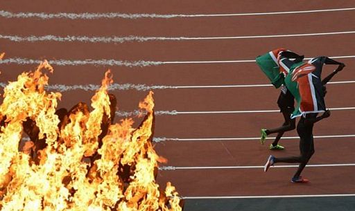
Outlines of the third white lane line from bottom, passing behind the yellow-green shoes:
{"label": "third white lane line from bottom, passing behind the yellow-green shoes", "polygon": [[[352,138],[355,137],[355,134],[349,135],[331,135],[331,136],[313,136],[313,138]],[[284,136],[282,139],[299,139],[298,136]],[[266,139],[275,139],[275,137],[267,137]],[[153,138],[153,141],[156,143],[163,141],[220,141],[220,140],[260,140],[260,137],[248,137],[248,138],[166,138],[166,137],[157,137]]]}

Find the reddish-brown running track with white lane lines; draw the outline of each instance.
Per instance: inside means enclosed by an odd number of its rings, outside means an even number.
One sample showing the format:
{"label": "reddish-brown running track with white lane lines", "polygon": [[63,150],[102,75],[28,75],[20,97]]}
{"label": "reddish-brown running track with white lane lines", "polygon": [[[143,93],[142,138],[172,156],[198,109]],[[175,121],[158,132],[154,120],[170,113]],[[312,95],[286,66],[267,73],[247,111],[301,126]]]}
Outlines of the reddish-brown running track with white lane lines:
{"label": "reddish-brown running track with white lane lines", "polygon": [[[177,187],[187,198],[185,210],[354,210],[354,8],[354,1],[3,0],[0,82],[49,59],[55,69],[50,84],[62,85],[53,89],[74,87],[63,92],[60,107],[89,103],[94,91],[83,86],[98,85],[108,68],[116,84],[128,87],[112,90],[120,112],[135,111],[148,93],[135,85],[153,89],[156,111],[175,111],[157,113],[155,137],[163,141],[155,149],[168,158],[158,182]],[[282,116],[267,112],[277,109],[279,91],[259,86],[268,81],[252,60],[280,46],[347,65],[334,77],[341,83],[327,86],[327,106],[336,110],[315,126],[321,138],[315,139],[314,166],[304,170],[307,185],[289,182],[295,167],[261,168],[271,140],[260,145],[259,129],[278,127]],[[324,66],[323,75],[332,68]],[[299,153],[297,138],[282,143],[286,150],[276,156]]]}

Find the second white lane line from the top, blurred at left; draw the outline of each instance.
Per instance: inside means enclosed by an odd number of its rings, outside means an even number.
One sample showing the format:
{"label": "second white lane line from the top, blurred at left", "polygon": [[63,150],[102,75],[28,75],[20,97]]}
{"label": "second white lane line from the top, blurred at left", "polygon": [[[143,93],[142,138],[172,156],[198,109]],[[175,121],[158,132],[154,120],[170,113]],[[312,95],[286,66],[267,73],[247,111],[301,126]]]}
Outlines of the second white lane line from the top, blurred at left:
{"label": "second white lane line from the top, blurred at left", "polygon": [[91,42],[91,43],[123,43],[123,42],[148,42],[148,41],[184,41],[184,40],[206,40],[206,39],[255,39],[255,38],[274,38],[274,37],[306,37],[321,35],[346,35],[354,34],[355,31],[331,32],[331,33],[307,33],[307,34],[290,34],[290,35],[252,35],[252,36],[234,36],[234,37],[87,37],[87,36],[70,36],[60,37],[55,35],[44,36],[27,36],[20,37],[17,35],[0,35],[0,39],[8,39],[12,42]]}

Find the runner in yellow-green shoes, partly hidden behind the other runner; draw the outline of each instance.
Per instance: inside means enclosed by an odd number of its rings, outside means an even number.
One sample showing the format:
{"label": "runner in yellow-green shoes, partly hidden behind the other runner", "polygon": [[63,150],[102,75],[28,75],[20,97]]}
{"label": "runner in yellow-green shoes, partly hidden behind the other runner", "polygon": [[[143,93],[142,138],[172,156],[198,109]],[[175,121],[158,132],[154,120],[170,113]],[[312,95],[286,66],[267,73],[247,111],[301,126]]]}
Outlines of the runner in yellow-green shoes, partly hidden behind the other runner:
{"label": "runner in yellow-green shoes, partly hidden behind the other runner", "polygon": [[[281,74],[286,77],[288,72],[290,71],[291,66],[302,62],[304,59],[303,55],[297,55],[292,51],[286,51],[284,48],[277,49],[277,62],[279,65],[279,71]],[[274,51],[272,51],[274,52]],[[291,59],[294,59],[293,61]],[[284,132],[291,131],[295,129],[295,119],[291,119],[291,113],[295,110],[293,95],[288,91],[286,86],[282,84],[281,93],[279,95],[279,99],[277,100],[277,105],[279,106],[280,112],[284,116],[284,124],[282,127],[277,127],[275,129],[261,129],[261,144],[265,142],[266,137],[269,134],[277,133],[277,136],[274,142],[269,146],[271,150],[282,150],[284,147],[279,145],[280,138],[284,135]]]}

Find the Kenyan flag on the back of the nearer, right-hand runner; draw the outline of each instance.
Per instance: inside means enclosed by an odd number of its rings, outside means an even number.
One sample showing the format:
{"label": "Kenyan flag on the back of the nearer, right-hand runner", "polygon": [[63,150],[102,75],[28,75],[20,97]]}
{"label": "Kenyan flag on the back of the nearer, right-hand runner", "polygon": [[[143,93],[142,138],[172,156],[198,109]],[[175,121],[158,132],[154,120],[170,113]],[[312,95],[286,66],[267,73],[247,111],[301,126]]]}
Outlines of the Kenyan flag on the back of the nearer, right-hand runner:
{"label": "Kenyan flag on the back of the nearer, right-hand runner", "polygon": [[291,118],[304,113],[320,113],[326,109],[320,78],[322,66],[315,66],[311,62],[293,65],[285,78],[286,87],[297,102]]}

